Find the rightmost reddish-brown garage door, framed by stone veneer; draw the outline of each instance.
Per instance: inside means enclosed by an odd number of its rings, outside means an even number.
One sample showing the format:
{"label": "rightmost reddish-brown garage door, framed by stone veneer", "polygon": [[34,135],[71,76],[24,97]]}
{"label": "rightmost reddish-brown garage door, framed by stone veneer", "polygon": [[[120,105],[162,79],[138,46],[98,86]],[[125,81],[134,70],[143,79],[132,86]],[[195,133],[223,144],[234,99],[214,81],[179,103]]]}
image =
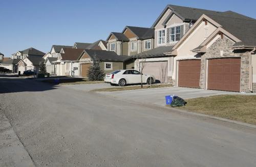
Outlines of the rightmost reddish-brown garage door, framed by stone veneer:
{"label": "rightmost reddish-brown garage door, framed by stone veneer", "polygon": [[207,89],[240,91],[240,58],[208,60]]}

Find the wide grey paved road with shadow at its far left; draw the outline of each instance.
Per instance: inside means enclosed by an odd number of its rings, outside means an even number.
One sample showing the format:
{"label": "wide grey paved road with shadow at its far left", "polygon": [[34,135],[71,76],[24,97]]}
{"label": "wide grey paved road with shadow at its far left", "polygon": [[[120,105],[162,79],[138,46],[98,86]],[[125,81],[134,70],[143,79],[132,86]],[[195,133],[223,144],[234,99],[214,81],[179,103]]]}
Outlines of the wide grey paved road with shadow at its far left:
{"label": "wide grey paved road with shadow at its far left", "polygon": [[255,129],[28,79],[0,99],[37,166],[256,164]]}

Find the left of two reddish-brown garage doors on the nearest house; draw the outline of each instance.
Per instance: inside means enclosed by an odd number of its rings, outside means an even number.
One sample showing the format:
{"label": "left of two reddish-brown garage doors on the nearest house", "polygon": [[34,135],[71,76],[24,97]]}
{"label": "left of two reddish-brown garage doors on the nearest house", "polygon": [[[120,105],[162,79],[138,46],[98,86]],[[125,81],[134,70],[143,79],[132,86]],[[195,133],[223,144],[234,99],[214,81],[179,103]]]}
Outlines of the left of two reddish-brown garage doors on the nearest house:
{"label": "left of two reddish-brown garage doors on the nearest house", "polygon": [[200,87],[201,60],[181,60],[178,71],[178,86]]}

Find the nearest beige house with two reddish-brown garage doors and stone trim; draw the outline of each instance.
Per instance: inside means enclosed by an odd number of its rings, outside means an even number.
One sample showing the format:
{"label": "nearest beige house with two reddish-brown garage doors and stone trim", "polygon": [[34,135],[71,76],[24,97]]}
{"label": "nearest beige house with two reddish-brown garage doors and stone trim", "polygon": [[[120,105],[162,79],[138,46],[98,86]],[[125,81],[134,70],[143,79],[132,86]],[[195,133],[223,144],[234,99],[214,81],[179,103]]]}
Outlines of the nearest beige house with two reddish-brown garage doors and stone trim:
{"label": "nearest beige house with two reddish-brown garage doors and stone trim", "polygon": [[[247,31],[240,31],[243,27]],[[256,92],[256,20],[232,11],[203,14],[166,53],[176,86]]]}

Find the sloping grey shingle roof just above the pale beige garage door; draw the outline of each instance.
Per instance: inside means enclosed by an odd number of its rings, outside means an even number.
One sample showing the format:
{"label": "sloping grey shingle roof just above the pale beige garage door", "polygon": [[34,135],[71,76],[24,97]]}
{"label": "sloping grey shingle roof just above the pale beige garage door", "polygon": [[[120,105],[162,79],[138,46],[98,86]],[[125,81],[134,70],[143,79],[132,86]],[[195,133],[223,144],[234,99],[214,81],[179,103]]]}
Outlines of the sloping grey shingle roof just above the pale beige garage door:
{"label": "sloping grey shingle roof just above the pale beige garage door", "polygon": [[133,57],[158,57],[158,56],[166,56],[164,53],[171,52],[174,46],[159,46],[155,49],[145,51],[139,54],[134,55]]}

